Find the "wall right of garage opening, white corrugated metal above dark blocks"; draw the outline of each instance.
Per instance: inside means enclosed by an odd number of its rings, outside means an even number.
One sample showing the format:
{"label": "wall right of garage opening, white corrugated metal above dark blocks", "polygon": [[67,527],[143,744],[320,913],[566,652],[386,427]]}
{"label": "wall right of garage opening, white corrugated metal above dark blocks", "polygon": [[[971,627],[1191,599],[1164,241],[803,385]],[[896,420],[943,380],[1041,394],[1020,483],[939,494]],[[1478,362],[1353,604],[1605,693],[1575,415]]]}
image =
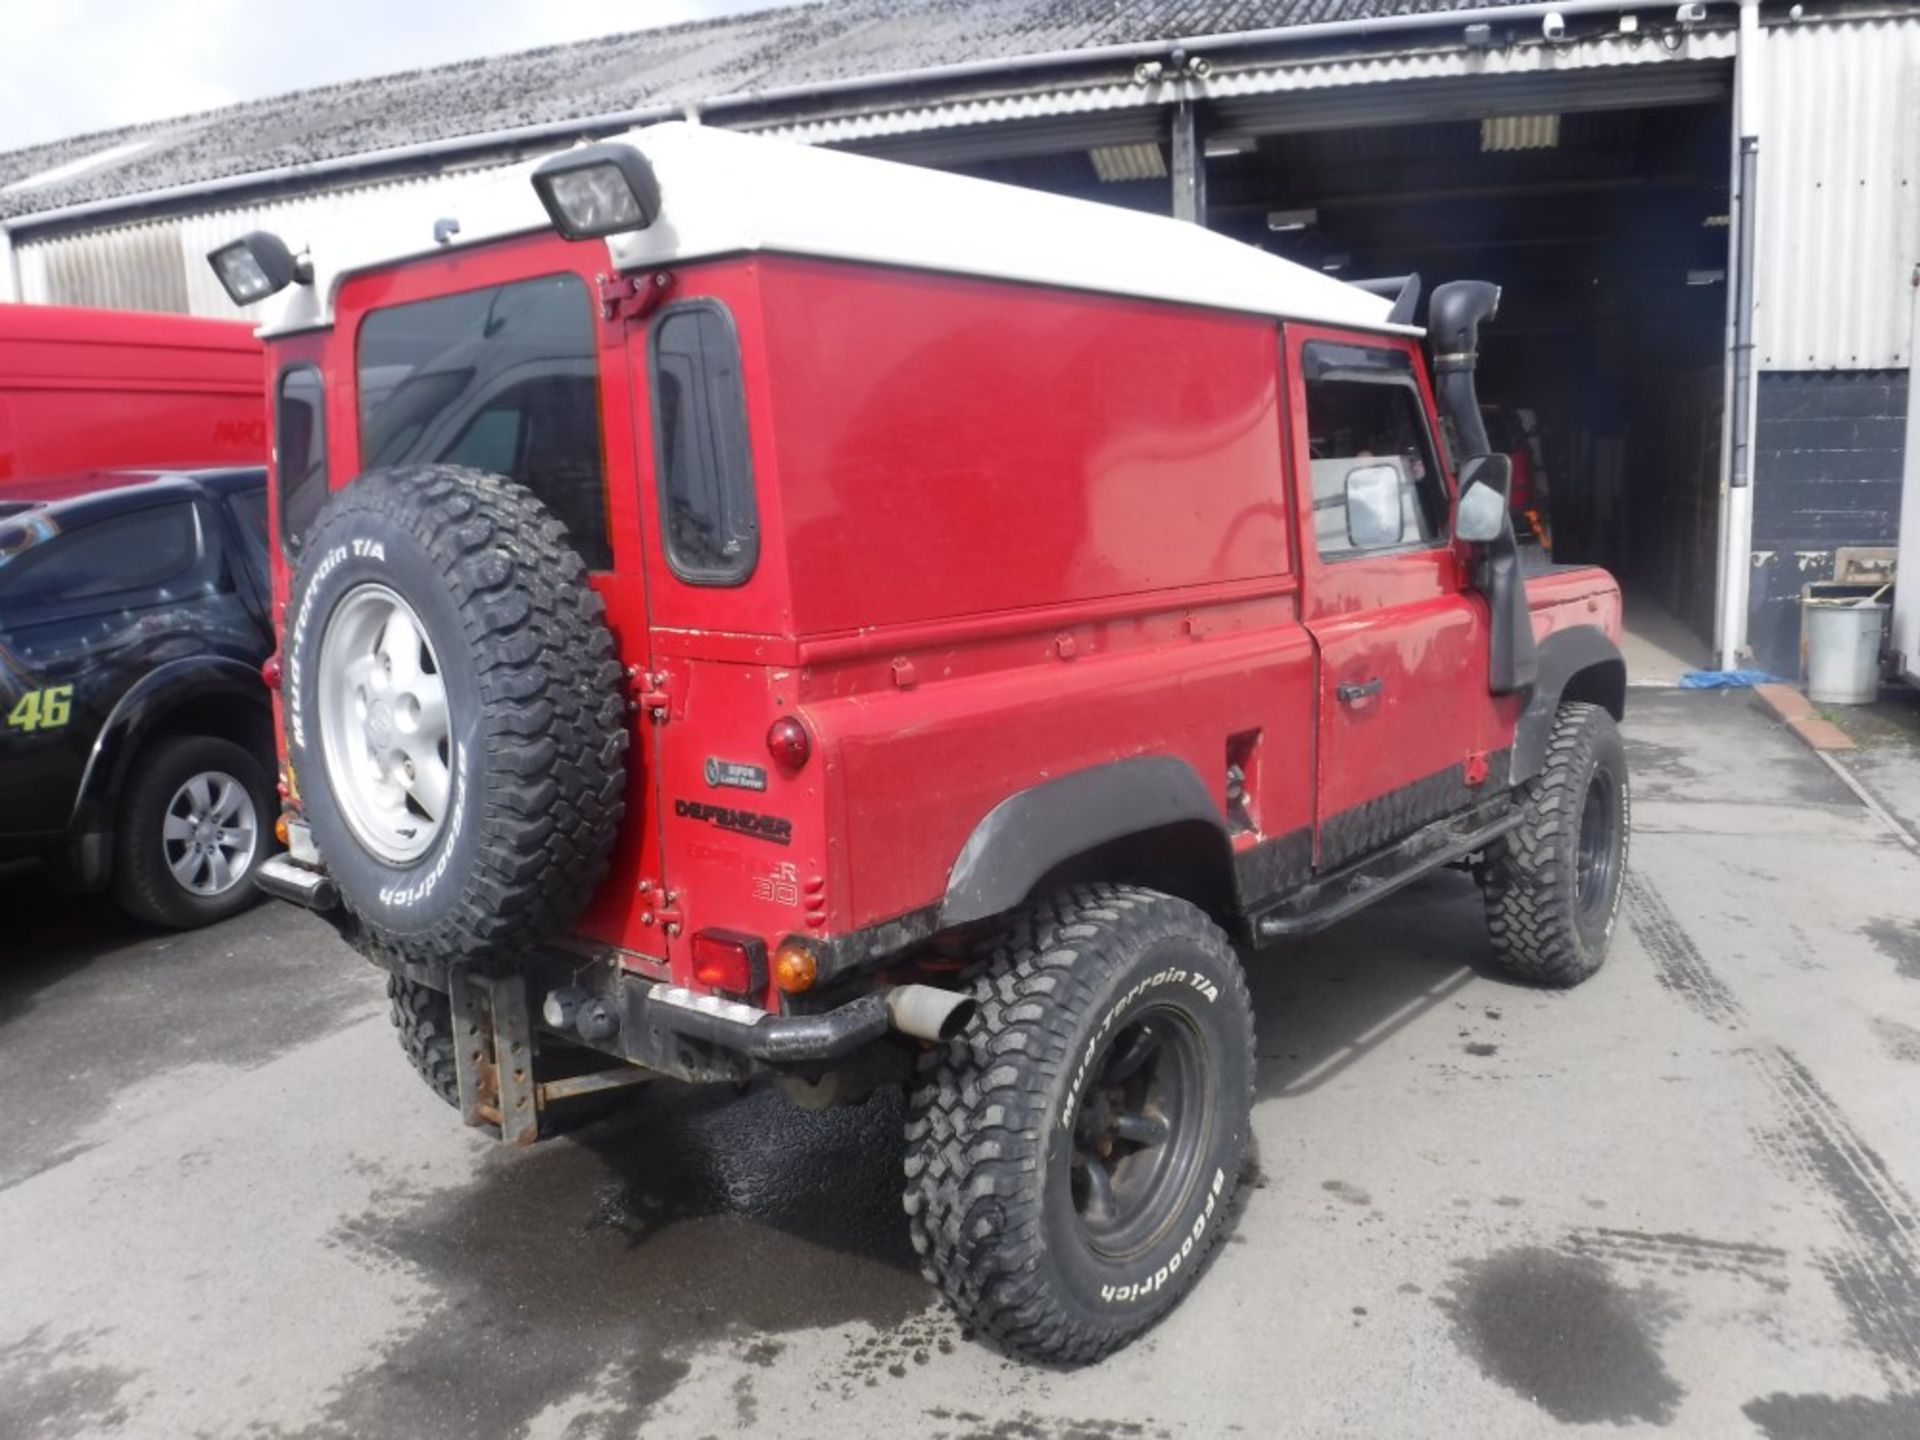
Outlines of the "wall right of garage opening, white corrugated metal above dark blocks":
{"label": "wall right of garage opening, white corrugated metal above dark blocks", "polygon": [[1801,593],[1895,547],[1920,280],[1920,15],[1770,25],[1761,152],[1747,645],[1801,666]]}

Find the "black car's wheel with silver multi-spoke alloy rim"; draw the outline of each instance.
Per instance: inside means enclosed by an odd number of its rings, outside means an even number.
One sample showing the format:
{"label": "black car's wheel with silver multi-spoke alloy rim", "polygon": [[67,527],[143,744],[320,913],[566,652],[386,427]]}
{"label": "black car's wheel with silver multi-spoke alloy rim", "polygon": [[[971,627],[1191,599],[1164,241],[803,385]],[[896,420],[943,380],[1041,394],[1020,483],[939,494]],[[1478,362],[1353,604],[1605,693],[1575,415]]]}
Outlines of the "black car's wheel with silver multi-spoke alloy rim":
{"label": "black car's wheel with silver multi-spoke alloy rim", "polygon": [[[219,735],[156,739],[134,762],[113,828],[115,902],[134,920],[171,929],[240,914],[259,899],[253,872],[273,854],[278,812],[273,781],[246,747]],[[209,829],[196,837],[196,824]],[[211,829],[234,824],[244,837]],[[217,856],[225,872],[215,876],[202,856]]]}

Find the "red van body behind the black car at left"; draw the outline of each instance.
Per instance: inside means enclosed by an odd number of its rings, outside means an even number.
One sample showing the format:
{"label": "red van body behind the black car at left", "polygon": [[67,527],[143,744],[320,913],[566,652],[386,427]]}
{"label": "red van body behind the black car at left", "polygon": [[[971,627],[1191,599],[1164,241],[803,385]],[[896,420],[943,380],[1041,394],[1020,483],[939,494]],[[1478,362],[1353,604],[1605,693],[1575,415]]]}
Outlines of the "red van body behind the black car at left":
{"label": "red van body behind the black car at left", "polygon": [[246,324],[0,305],[0,484],[115,465],[259,465],[265,388]]}

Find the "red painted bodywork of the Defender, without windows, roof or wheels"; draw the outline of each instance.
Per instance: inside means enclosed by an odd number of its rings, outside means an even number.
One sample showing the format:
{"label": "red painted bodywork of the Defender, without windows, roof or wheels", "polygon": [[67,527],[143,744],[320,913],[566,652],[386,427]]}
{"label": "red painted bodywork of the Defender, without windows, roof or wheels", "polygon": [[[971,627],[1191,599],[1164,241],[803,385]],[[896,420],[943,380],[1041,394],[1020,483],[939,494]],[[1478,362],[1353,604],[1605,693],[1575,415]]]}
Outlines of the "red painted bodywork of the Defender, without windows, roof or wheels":
{"label": "red painted bodywork of the Defender, without windows, roof or wheels", "polygon": [[[369,309],[591,282],[603,259],[534,236],[349,278],[334,330],[276,353],[323,361],[332,484],[357,468]],[[1238,747],[1244,851],[1511,745],[1463,551],[1321,563],[1296,540],[1290,357],[1331,332],[778,255],[682,267],[672,300],[689,298],[739,336],[758,563],[728,588],[668,570],[647,323],[603,319],[614,572],[595,584],[645,703],[628,833],[582,941],[689,985],[699,929],[772,947],[925,912],[1000,801],[1108,760],[1179,756],[1225,814]],[[1536,626],[1617,636],[1613,582],[1580,574],[1542,584]],[[1371,707],[1332,699],[1354,678],[1382,680]],[[768,755],[781,716],[812,737],[797,772]],[[708,762],[762,766],[766,789],[718,789]]]}

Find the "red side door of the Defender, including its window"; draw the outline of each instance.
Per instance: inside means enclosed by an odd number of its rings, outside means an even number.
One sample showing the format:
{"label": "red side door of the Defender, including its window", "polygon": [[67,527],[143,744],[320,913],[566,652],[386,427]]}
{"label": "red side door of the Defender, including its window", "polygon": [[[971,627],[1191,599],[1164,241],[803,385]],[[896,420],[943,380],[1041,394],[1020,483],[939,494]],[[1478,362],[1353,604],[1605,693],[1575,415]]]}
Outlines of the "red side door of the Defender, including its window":
{"label": "red side door of the Defender, including its window", "polygon": [[1467,808],[1492,733],[1486,607],[1411,340],[1288,326],[1304,618],[1319,647],[1317,864]]}

